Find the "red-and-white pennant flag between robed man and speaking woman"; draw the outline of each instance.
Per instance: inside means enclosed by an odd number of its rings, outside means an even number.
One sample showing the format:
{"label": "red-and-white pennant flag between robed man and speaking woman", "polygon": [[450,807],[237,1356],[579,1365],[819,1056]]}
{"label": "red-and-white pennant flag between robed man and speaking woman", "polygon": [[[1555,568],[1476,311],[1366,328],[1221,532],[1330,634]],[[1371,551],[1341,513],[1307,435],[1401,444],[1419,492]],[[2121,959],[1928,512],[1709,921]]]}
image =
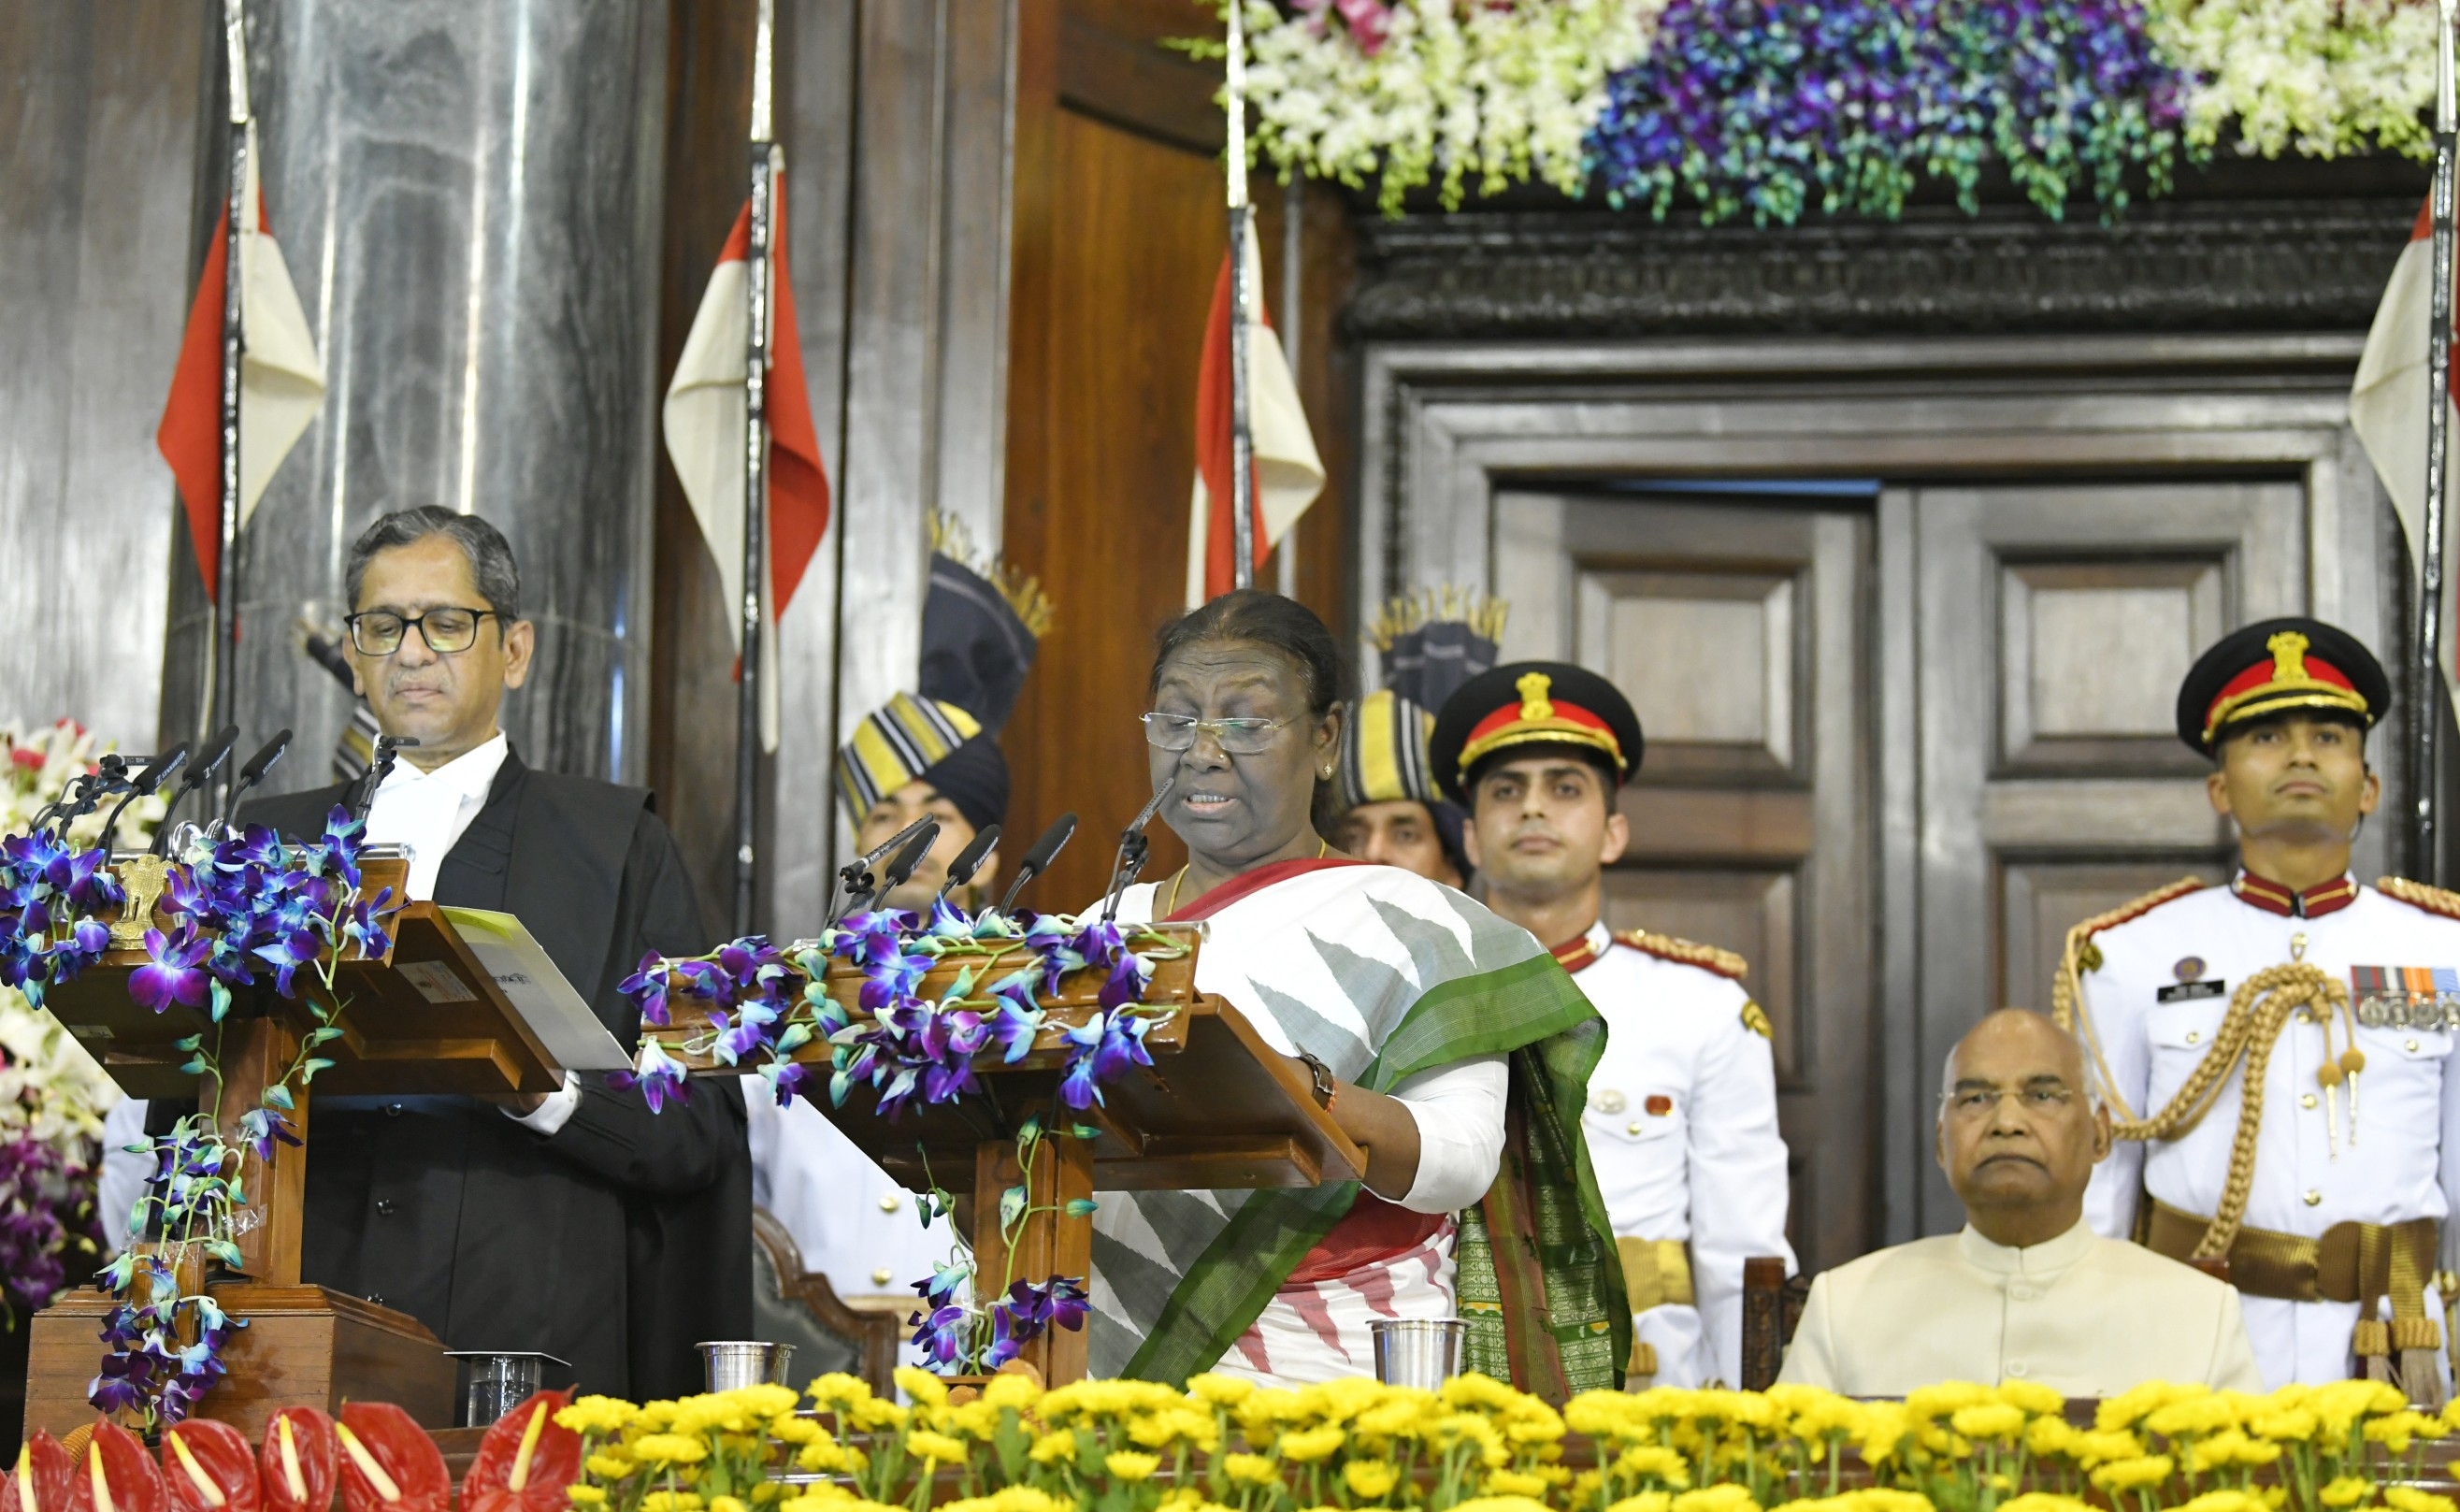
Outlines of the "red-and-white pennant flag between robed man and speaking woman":
{"label": "red-and-white pennant flag between robed man and speaking woman", "polygon": [[[768,371],[768,580],[760,629],[760,745],[777,750],[777,620],[795,600],[804,568],[829,529],[829,474],[819,465],[812,430],[812,396],[802,379],[802,342],[795,332],[795,290],[785,258],[785,179],[775,184],[770,236],[770,371]],[[743,374],[750,369],[750,305],[745,256],[753,241],[753,207],[745,199],[736,229],[708,273],[701,312],[691,317],[684,356],[667,386],[667,455],[701,521],[701,538],[726,585],[726,632],[743,652]]]}

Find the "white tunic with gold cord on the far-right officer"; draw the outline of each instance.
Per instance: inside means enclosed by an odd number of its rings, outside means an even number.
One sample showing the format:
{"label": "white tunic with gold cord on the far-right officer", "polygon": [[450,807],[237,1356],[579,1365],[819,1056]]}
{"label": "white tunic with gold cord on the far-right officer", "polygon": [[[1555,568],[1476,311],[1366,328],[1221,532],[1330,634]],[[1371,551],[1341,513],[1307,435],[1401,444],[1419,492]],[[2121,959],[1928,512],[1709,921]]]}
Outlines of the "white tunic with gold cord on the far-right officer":
{"label": "white tunic with gold cord on the far-right officer", "polygon": [[[2300,934],[2303,959],[2344,986],[2354,969],[2428,969],[2443,974],[2445,991],[2460,986],[2450,976],[2460,969],[2460,919],[2374,888],[2357,888],[2352,902],[2320,917],[2295,917],[2241,897],[2239,888],[2248,883],[2268,888],[2241,873],[2231,888],[2187,892],[2093,937],[2101,964],[2081,974],[2076,1028],[2086,1035],[2089,1057],[2098,1047],[2106,1092],[2121,1104],[2111,1109],[2113,1119],[2123,1111],[2145,1119],[2167,1106],[2212,1050],[2239,983],[2290,961]],[[2312,895],[2327,895],[2327,888]],[[2371,981],[2371,974],[2362,981]],[[2362,996],[2352,993],[2352,1001]],[[2460,996],[2445,1003],[2460,1010]],[[2364,1018],[2384,1015],[2369,1010]],[[2339,1222],[2396,1224],[2453,1212],[2460,1180],[2460,1092],[2453,1087],[2460,1057],[2453,1055],[2453,1033],[2364,1018],[2357,1047],[2367,1065],[2354,1099],[2347,1084],[2325,1097],[2317,1082],[2325,1025],[2293,1015],[2273,1045],[2253,1190],[2246,1200],[2248,1227],[2320,1237]],[[2332,1023],[2330,1047],[2335,1057],[2347,1050],[2344,1020]],[[2093,1229],[2113,1239],[2130,1237],[2143,1192],[2194,1217],[2214,1215],[2239,1128],[2241,1079],[2244,1065],[2184,1136],[2150,1148],[2121,1141],[2111,1151],[2086,1192],[2084,1210]],[[2258,1296],[2244,1303],[2246,1333],[2268,1387],[2344,1379],[2354,1372],[2357,1303]],[[2430,1288],[2426,1313],[2443,1320],[2443,1303]],[[2389,1318],[2389,1310],[2379,1308],[2376,1315]]]}

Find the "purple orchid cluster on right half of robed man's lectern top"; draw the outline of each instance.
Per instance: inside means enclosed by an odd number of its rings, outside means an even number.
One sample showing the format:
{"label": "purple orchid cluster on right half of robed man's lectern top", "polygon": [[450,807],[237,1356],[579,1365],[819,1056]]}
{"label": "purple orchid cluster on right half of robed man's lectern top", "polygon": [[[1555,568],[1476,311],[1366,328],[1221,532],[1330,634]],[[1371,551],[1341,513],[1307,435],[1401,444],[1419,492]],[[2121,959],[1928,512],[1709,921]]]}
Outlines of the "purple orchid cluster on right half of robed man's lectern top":
{"label": "purple orchid cluster on right half of robed man's lectern top", "polygon": [[391,888],[359,895],[359,821],[347,809],[325,819],[325,833],[305,846],[261,824],[214,846],[212,856],[170,868],[162,912],[172,932],[145,932],[145,966],[128,978],[128,996],[162,1013],[172,1003],[212,1008],[219,1023],[231,991],[253,986],[271,971],[273,991],[298,996],[300,966],[327,951],[391,947],[384,919],[394,912]]}

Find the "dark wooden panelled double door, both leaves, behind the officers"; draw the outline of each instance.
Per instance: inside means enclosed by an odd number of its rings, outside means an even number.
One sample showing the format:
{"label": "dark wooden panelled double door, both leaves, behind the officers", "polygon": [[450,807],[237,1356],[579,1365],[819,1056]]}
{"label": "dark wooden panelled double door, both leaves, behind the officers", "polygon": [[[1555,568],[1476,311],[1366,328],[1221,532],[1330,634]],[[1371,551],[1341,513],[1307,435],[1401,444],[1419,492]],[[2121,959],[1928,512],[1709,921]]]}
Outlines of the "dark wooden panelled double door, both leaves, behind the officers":
{"label": "dark wooden panelled double door, both leaves, behind the officers", "polygon": [[1646,730],[1609,922],[1752,961],[1806,1266],[1953,1229],[1948,1047],[2047,1008],[2076,919],[2221,875],[2177,683],[2307,610],[2305,514],[2266,479],[1496,494],[1506,656]]}

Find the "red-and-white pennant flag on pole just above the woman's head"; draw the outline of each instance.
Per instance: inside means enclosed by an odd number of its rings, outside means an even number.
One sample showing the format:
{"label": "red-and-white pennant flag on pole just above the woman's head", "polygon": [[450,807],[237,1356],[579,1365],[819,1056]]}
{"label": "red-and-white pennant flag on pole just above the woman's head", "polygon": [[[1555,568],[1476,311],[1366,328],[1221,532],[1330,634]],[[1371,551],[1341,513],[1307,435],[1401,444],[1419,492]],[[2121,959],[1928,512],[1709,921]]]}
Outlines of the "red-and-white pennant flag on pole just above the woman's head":
{"label": "red-and-white pennant flag on pole just above the woman's head", "polygon": [[[1264,253],[1247,221],[1247,435],[1255,447],[1255,565],[1323,492],[1323,460],[1299,408],[1282,342],[1264,320]],[[1213,504],[1220,502],[1223,509]],[[1196,497],[1188,504],[1188,607],[1230,593],[1230,253],[1213,280],[1205,356],[1196,374]]]}

